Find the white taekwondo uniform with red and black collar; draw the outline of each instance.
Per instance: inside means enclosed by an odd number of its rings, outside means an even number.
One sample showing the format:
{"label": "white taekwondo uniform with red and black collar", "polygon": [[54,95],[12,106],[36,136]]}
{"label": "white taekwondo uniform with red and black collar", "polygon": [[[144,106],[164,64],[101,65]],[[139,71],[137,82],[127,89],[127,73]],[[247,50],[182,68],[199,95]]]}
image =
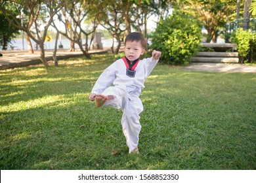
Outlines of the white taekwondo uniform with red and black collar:
{"label": "white taekwondo uniform with red and black collar", "polygon": [[158,59],[153,58],[137,59],[132,65],[127,58],[117,59],[99,76],[91,92],[114,96],[114,99],[106,101],[104,106],[123,111],[121,125],[129,153],[139,144],[139,114],[143,110],[139,95],[144,88],[144,81],[157,63]]}

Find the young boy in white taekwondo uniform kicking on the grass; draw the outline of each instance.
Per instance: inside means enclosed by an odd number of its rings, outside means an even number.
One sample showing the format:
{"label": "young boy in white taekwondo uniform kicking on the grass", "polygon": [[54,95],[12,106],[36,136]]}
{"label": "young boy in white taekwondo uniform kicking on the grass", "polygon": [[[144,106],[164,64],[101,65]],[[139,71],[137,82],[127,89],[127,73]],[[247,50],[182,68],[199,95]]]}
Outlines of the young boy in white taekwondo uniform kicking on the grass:
{"label": "young boy in white taekwondo uniform kicking on the grass", "polygon": [[140,112],[143,110],[140,93],[144,81],[158,63],[161,52],[154,50],[152,58],[140,60],[147,42],[141,33],[125,38],[125,57],[118,59],[100,75],[89,100],[96,107],[109,106],[123,111],[121,125],[129,153],[139,153]]}

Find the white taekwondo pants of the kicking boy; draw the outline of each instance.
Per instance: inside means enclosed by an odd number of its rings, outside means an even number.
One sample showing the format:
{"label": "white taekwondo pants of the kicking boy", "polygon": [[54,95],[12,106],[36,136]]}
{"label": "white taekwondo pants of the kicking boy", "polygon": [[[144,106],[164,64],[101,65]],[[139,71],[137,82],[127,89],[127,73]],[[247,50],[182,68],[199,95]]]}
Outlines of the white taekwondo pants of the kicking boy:
{"label": "white taekwondo pants of the kicking boy", "polygon": [[104,106],[114,107],[123,111],[121,125],[123,134],[125,135],[126,144],[129,147],[129,153],[139,144],[140,134],[140,112],[143,110],[142,102],[140,101],[140,91],[135,88],[133,91],[127,91],[126,86],[110,86],[106,88],[103,95],[113,95],[114,99],[106,101]]}

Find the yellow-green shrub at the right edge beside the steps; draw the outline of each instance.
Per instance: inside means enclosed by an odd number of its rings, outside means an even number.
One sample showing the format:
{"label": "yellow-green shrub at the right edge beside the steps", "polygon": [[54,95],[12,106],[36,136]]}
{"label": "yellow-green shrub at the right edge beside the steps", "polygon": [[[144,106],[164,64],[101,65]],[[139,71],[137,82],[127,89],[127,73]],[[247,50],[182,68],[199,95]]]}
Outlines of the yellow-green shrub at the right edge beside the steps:
{"label": "yellow-green shrub at the right edge beside the steps", "polygon": [[256,33],[248,30],[238,29],[236,34],[232,37],[232,42],[237,44],[238,55],[240,62],[256,62]]}

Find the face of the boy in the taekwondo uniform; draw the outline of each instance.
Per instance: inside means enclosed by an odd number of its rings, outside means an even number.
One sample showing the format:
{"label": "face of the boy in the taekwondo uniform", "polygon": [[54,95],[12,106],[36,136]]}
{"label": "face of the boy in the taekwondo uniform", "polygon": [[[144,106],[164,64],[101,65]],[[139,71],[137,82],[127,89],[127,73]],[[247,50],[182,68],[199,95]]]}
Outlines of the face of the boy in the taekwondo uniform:
{"label": "face of the boy in the taekwondo uniform", "polygon": [[129,61],[133,62],[135,59],[139,58],[140,55],[144,54],[145,49],[142,48],[140,42],[137,41],[127,41],[125,42],[125,56]]}

